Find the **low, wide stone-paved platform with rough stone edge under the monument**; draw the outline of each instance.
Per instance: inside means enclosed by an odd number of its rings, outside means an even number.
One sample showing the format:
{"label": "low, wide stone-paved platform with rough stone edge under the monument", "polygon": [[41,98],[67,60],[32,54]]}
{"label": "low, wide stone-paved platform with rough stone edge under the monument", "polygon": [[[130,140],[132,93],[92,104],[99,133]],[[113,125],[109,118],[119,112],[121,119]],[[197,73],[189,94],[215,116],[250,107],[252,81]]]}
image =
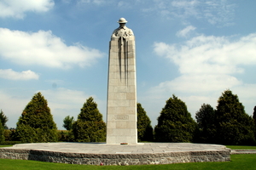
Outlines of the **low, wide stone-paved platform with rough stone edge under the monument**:
{"label": "low, wide stone-paved platform with rough stone edge under the monument", "polygon": [[171,164],[230,161],[230,149],[189,143],[36,143],[0,148],[0,158],[87,165]]}

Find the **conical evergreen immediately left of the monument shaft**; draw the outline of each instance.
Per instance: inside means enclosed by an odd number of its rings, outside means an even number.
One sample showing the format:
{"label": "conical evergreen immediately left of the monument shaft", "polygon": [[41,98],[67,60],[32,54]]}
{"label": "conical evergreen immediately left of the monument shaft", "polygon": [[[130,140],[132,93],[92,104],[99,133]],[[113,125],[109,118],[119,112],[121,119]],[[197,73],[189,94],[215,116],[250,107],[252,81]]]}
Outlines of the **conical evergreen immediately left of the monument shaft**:
{"label": "conical evergreen immediately left of the monument shaft", "polygon": [[102,120],[102,114],[97,109],[96,102],[90,97],[84,103],[73,123],[73,137],[77,142],[103,142],[106,140],[106,123]]}

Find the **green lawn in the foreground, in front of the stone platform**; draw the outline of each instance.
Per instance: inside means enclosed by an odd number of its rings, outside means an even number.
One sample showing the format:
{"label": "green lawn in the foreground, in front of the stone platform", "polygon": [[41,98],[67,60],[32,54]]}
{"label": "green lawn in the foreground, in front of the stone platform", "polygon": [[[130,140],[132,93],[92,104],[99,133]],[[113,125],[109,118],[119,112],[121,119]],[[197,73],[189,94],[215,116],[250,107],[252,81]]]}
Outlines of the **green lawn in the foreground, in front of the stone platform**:
{"label": "green lawn in the foreground, in front of the stone platform", "polygon": [[196,163],[177,163],[169,165],[142,165],[142,166],[89,166],[89,165],[71,165],[61,163],[49,163],[44,161],[24,161],[24,160],[9,160],[0,159],[0,167],[4,170],[19,169],[19,170],[41,170],[41,169],[68,169],[68,170],[86,170],[86,169],[130,169],[130,170],[143,170],[143,169],[255,169],[256,168],[256,154],[248,155],[232,155],[231,161],[225,162],[196,162]]}

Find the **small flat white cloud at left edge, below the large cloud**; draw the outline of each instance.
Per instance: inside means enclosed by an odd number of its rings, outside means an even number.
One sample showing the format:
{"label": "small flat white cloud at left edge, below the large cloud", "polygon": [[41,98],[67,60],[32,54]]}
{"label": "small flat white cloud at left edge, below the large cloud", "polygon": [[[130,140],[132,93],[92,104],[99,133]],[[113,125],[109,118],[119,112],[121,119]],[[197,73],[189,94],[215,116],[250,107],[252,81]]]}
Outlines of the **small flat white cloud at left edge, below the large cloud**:
{"label": "small flat white cloud at left edge, below the large cloud", "polygon": [[2,70],[0,69],[0,77],[9,79],[9,80],[31,80],[36,79],[38,80],[39,76],[37,73],[33,71],[22,71],[22,72],[16,72],[12,69],[6,69]]}

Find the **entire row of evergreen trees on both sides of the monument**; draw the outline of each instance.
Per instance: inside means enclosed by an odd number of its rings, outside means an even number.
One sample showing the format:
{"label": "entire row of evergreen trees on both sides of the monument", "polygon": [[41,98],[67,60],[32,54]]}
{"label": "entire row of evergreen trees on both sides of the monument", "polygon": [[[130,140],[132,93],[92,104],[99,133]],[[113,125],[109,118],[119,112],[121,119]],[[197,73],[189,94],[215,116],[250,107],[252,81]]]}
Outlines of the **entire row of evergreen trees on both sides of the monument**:
{"label": "entire row of evergreen trees on both sides of the monument", "polygon": [[[230,90],[225,90],[219,97],[216,109],[208,104],[201,105],[195,119],[186,104],[172,95],[166,100],[153,128],[143,106],[137,103],[138,141],[256,144],[256,106],[253,116],[248,116],[238,96]],[[84,102],[77,120],[73,116],[64,118],[63,127],[67,131],[57,130],[47,100],[40,92],[22,111],[16,129],[7,129],[8,117],[2,110],[0,120],[0,143],[4,140],[20,140],[22,143],[106,141],[106,123],[92,97]]]}

